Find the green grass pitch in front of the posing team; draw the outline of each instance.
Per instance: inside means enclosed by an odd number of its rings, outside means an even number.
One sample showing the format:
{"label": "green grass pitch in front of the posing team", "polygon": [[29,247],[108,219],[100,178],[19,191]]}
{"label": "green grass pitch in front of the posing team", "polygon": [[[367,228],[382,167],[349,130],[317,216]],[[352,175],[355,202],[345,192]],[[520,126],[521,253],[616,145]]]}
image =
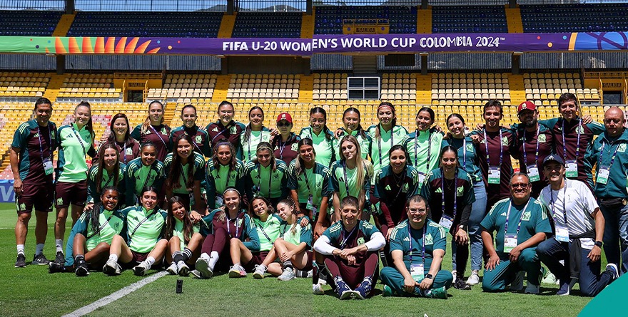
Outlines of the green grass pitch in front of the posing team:
{"label": "green grass pitch in front of the posing team", "polygon": [[[131,271],[114,277],[92,272],[78,278],[74,274],[49,274],[46,266],[15,269],[15,221],[14,205],[0,204],[0,316],[61,316],[143,279]],[[53,221],[51,215],[45,249],[49,258],[54,258]],[[34,224],[33,218],[26,241],[27,261],[34,254]],[[451,269],[449,254],[443,266]],[[557,286],[550,284],[542,284],[540,296],[483,293],[480,286],[474,286],[471,291],[450,289],[447,300],[384,298],[378,284],[373,298],[340,301],[328,286],[325,296],[313,295],[308,279],[258,281],[250,274],[246,279],[228,279],[226,275],[210,280],[183,278],[183,293],[177,294],[176,279],[163,276],[88,316],[577,316],[590,300],[577,295],[555,296]]]}

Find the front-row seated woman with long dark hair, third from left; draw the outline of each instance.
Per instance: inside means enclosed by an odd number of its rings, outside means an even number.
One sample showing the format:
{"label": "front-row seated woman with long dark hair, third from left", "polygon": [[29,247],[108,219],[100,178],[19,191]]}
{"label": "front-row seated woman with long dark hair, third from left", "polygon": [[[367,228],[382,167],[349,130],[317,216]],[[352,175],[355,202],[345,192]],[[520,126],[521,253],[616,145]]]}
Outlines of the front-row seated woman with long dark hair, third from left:
{"label": "front-row seated woman with long dark hair, third from left", "polygon": [[[190,219],[188,204],[181,197],[173,196],[168,200],[168,217],[166,217],[166,261],[170,263],[168,273],[172,275],[188,276],[190,268],[186,263],[194,263],[203,235],[199,224],[193,224]],[[196,256],[194,254],[196,253]],[[171,260],[172,259],[172,260]]]}

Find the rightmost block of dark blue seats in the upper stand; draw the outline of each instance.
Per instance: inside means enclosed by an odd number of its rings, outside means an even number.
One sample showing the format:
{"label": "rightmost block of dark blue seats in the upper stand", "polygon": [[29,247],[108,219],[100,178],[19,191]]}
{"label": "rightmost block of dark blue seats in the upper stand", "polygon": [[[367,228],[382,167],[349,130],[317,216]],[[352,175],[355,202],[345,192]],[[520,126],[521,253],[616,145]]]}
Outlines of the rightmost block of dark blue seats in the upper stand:
{"label": "rightmost block of dark blue seats in the upper stand", "polygon": [[612,32],[628,30],[627,4],[522,5],[525,32]]}

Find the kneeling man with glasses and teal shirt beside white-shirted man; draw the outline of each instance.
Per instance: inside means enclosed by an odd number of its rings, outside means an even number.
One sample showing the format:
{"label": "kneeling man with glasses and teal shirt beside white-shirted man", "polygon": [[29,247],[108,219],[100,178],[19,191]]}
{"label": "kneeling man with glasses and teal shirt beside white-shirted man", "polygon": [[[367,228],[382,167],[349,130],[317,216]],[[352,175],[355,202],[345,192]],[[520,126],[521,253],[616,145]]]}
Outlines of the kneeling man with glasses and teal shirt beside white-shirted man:
{"label": "kneeling man with glasses and teal shirt beside white-shirted man", "polygon": [[[527,273],[525,293],[539,293],[541,262],[536,246],[552,234],[550,219],[543,205],[530,197],[530,177],[515,173],[510,179],[510,198],[497,202],[482,220],[482,241],[490,255],[484,270],[482,289],[510,291],[523,289],[523,276]],[[492,232],[497,232],[493,246]]]}

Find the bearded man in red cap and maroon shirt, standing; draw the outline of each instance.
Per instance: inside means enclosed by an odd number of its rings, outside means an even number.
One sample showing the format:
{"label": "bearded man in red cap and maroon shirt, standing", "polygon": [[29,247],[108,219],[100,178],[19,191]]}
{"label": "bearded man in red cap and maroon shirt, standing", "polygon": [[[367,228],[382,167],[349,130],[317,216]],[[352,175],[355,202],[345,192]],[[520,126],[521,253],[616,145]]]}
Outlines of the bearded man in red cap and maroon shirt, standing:
{"label": "bearded man in red cap and maroon shirt, standing", "polygon": [[539,110],[531,101],[525,101],[517,108],[520,125],[513,125],[517,137],[517,160],[521,172],[526,173],[532,182],[532,197],[537,198],[547,179],[542,171],[542,162],[552,153],[554,137],[552,130],[538,122]]}

